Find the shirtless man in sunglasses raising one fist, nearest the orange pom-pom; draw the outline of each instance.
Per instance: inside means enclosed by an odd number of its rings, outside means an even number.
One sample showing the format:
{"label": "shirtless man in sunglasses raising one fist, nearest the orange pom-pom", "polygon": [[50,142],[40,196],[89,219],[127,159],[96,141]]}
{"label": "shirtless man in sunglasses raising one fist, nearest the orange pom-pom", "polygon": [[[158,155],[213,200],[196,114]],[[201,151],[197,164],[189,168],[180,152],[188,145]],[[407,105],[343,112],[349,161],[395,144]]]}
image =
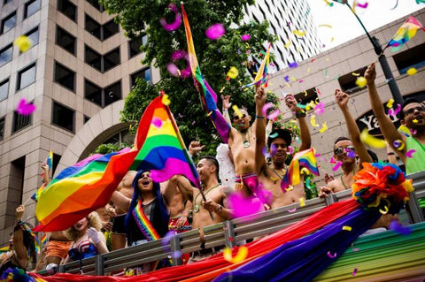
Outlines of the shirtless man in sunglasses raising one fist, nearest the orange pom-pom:
{"label": "shirtless man in sunglasses raising one fist, nearest the orange pom-pom", "polygon": [[[334,159],[336,162],[341,162],[343,173],[339,178],[336,178],[327,183],[326,187],[321,187],[319,196],[326,196],[330,193],[335,193],[352,188],[354,179],[352,177],[361,169],[361,164],[364,162],[371,163],[372,158],[367,153],[367,149],[360,140],[359,127],[356,125],[352,113],[348,108],[350,96],[345,92],[336,89],[335,101],[343,112],[345,123],[347,125],[350,138],[339,137],[334,143]],[[359,162],[356,160],[359,156]]]}

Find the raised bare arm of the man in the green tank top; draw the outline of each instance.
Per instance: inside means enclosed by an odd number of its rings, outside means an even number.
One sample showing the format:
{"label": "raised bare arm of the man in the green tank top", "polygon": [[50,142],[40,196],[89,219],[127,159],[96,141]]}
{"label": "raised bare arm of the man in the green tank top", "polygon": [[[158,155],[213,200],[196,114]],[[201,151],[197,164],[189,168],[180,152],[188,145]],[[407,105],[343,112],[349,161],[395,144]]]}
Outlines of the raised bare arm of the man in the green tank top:
{"label": "raised bare arm of the man in the green tank top", "polygon": [[365,72],[365,79],[367,80],[367,90],[369,93],[369,99],[372,105],[372,110],[374,110],[374,114],[376,119],[378,120],[379,127],[383,132],[383,137],[385,137],[385,140],[390,144],[391,148],[394,149],[395,152],[397,152],[398,156],[400,156],[401,160],[405,163],[406,146],[404,149],[398,150],[394,148],[393,143],[397,140],[401,140],[406,143],[406,137],[405,135],[398,133],[396,126],[392,124],[390,118],[388,118],[388,116],[385,114],[385,111],[383,110],[383,102],[381,101],[381,98],[379,97],[378,92],[376,90],[375,78],[375,64],[372,64],[367,67],[367,70]]}

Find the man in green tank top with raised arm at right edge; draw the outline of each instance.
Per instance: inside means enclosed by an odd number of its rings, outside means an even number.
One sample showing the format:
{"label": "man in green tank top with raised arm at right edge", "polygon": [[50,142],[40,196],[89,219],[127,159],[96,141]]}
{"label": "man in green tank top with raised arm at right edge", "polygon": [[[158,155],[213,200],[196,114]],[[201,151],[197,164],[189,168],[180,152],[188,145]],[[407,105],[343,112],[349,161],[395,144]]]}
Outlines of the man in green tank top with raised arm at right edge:
{"label": "man in green tank top with raised arm at right edge", "polygon": [[[383,132],[383,137],[398,154],[401,161],[406,164],[406,173],[425,171],[425,162],[423,161],[425,160],[425,105],[417,100],[407,99],[401,106],[398,114],[400,122],[412,132],[412,136],[406,137],[398,132],[396,126],[385,114],[383,102],[375,86],[375,64],[367,67],[365,78],[372,110],[374,110],[375,118]],[[400,141],[403,142],[400,146],[395,145]]]}

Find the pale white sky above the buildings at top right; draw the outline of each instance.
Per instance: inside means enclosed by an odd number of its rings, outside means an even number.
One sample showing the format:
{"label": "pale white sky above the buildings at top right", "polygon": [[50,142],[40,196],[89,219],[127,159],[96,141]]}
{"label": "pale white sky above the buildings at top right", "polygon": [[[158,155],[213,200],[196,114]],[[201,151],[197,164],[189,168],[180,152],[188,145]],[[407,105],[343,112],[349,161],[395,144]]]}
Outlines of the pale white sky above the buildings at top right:
{"label": "pale white sky above the buildings at top right", "polygon": [[[318,35],[325,45],[323,50],[334,48],[364,34],[359,22],[346,5],[332,0],[307,0],[307,2],[310,4],[310,12],[318,29]],[[333,6],[330,7],[326,2],[333,3]],[[352,2],[353,0],[348,1],[351,5]],[[414,11],[425,8],[425,4],[417,4],[416,0],[358,0],[357,2],[367,4],[366,9],[360,7],[355,9],[367,31],[382,27],[396,19],[407,19],[407,16]],[[319,27],[320,25],[331,27]],[[331,41],[332,38],[333,41]]]}

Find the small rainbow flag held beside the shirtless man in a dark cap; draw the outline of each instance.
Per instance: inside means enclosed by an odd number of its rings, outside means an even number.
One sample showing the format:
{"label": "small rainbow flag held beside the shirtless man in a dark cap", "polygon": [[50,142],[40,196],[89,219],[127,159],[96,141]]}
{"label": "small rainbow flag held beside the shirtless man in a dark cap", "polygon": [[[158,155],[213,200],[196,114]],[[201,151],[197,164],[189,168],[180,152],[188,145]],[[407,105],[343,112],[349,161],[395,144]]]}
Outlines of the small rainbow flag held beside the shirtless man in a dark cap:
{"label": "small rainbow flag held beside the shirtless man in a dark cap", "polygon": [[286,192],[288,187],[296,186],[300,182],[299,174],[300,168],[302,167],[305,167],[314,175],[319,175],[319,168],[317,167],[313,148],[305,149],[304,151],[300,151],[294,155],[281,182],[283,192]]}

